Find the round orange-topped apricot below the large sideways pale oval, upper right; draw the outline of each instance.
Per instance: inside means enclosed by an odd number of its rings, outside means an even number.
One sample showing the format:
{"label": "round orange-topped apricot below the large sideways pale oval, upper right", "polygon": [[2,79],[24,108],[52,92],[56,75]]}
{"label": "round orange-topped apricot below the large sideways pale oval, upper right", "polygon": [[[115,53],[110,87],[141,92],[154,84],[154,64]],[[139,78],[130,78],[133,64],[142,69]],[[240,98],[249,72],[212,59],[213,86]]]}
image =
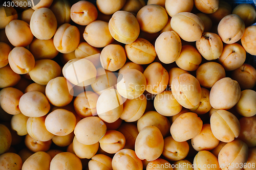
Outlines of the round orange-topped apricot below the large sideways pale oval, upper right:
{"label": "round orange-topped apricot below the large sideways pale oval, upper right", "polygon": [[186,71],[195,71],[202,62],[202,56],[192,45],[183,45],[176,64]]}

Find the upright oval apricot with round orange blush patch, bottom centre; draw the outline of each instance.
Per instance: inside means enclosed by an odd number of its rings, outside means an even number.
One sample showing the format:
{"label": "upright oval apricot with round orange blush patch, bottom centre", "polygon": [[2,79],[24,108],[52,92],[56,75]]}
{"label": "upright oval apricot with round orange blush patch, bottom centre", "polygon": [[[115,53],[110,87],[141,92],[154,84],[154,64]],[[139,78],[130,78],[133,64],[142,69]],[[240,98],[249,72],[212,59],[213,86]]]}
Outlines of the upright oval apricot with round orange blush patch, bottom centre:
{"label": "upright oval apricot with round orange blush patch, bottom centre", "polygon": [[146,126],[143,128],[135,141],[135,153],[141,160],[156,160],[161,156],[163,148],[163,136],[161,131],[155,126]]}

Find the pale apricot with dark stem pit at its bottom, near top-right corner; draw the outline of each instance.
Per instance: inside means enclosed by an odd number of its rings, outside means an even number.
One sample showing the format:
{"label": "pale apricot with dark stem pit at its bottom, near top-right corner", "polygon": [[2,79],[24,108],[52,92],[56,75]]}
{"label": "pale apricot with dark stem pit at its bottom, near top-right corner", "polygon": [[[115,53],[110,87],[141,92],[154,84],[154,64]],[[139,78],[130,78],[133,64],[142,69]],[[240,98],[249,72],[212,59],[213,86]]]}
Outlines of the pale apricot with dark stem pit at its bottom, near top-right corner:
{"label": "pale apricot with dark stem pit at its bottom, near top-right corner", "polygon": [[244,31],[244,21],[236,14],[225,16],[218,25],[218,34],[226,44],[232,44],[240,40]]}

